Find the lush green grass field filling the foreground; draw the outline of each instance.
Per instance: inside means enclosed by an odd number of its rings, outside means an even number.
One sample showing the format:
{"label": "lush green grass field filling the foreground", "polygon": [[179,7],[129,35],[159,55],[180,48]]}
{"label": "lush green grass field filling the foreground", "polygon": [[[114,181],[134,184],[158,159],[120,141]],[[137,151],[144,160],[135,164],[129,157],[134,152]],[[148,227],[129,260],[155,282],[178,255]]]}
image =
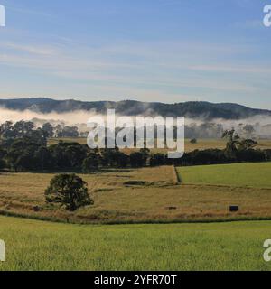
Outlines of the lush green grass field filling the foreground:
{"label": "lush green grass field filling the foreground", "polygon": [[271,221],[79,226],[0,217],[0,270],[270,270]]}

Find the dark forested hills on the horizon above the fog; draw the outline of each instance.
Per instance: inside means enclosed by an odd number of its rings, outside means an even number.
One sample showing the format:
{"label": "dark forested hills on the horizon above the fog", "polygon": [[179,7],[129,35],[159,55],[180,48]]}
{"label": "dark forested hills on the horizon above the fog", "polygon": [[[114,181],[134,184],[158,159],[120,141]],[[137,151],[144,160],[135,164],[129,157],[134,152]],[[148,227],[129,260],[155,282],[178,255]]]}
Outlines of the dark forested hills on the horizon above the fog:
{"label": "dark forested hills on the horizon above the fog", "polygon": [[210,103],[204,101],[182,102],[165,104],[158,102],[139,101],[78,101],[78,100],[54,100],[51,98],[20,98],[0,99],[0,107],[23,111],[29,109],[35,112],[70,112],[75,110],[96,110],[98,113],[107,113],[108,108],[115,108],[116,113],[126,116],[170,116],[192,117],[210,120],[214,118],[243,119],[255,116],[271,117],[271,110],[256,109],[240,106],[233,103]]}

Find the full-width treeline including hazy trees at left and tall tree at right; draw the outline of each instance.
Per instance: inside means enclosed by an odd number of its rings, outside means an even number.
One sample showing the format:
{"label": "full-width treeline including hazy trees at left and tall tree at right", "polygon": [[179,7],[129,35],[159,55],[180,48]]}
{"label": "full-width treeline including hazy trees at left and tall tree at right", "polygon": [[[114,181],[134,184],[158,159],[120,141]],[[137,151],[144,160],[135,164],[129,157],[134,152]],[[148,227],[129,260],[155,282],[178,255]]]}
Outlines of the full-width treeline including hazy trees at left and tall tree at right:
{"label": "full-width treeline including hazy trees at left and tall tree at right", "polygon": [[31,122],[10,122],[0,126],[0,169],[13,172],[65,171],[96,172],[102,168],[126,168],[159,165],[199,165],[217,163],[271,161],[271,150],[255,149],[257,142],[243,139],[234,129],[225,131],[224,150],[207,149],[185,153],[180,159],[169,159],[166,154],[153,154],[148,149],[124,154],[115,149],[90,149],[78,143],[47,146],[48,132]]}

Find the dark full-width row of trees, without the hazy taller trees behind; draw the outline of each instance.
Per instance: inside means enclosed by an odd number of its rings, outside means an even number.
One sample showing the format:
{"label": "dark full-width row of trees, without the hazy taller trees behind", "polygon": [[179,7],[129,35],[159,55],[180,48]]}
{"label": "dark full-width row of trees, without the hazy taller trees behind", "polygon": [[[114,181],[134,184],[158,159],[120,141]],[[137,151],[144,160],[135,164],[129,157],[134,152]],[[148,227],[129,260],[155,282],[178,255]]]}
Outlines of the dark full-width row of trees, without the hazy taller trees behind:
{"label": "dark full-width row of trees, without the hazy taller trees behind", "polygon": [[[87,145],[60,143],[49,147],[29,139],[14,141],[8,150],[0,149],[0,168],[14,172],[66,171],[96,172],[101,168],[126,168],[159,165],[198,165],[236,162],[271,161],[271,150],[257,150],[241,142],[236,147],[227,144],[225,150],[208,149],[185,153],[181,159],[168,159],[166,154],[151,154],[142,149],[124,154],[116,149],[90,150]],[[245,145],[245,146],[243,146]]]}

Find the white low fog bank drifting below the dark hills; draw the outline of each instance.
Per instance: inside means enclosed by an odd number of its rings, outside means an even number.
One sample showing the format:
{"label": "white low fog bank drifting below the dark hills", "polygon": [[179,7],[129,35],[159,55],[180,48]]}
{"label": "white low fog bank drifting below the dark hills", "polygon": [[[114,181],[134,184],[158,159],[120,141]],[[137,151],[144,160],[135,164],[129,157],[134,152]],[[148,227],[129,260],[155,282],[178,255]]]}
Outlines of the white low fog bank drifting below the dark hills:
{"label": "white low fog bank drifting below the dark hills", "polygon": [[[100,116],[95,111],[77,110],[69,113],[51,112],[42,114],[31,110],[10,110],[0,107],[0,123],[5,121],[17,122],[20,120],[33,121],[36,126],[50,122],[52,126],[78,126],[79,132],[86,132],[89,117]],[[257,116],[238,120],[185,118],[185,134],[188,138],[217,138],[222,131],[234,127],[240,135],[248,137],[271,138],[271,117]]]}

